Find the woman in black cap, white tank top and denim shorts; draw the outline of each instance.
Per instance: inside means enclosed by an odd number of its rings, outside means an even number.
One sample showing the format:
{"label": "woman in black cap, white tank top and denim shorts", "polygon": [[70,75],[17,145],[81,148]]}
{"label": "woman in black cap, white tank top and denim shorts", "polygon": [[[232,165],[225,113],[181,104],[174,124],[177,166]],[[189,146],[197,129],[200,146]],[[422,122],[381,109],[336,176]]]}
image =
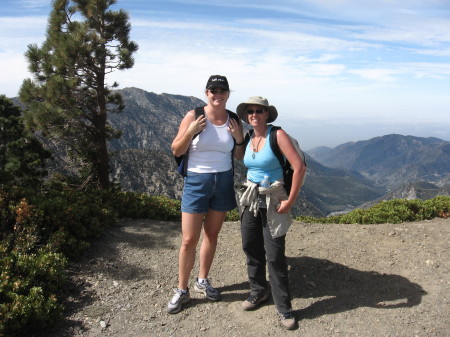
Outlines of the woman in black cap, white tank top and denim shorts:
{"label": "woman in black cap, white tank top and denim shorts", "polygon": [[172,142],[175,156],[189,153],[181,199],[178,288],[167,305],[167,311],[172,314],[190,300],[188,283],[202,227],[199,275],[194,290],[211,301],[220,299],[220,292],[211,285],[208,273],[226,212],[236,207],[232,154],[239,157],[243,154],[242,123],[235,113],[226,110],[230,88],[225,76],[212,75],[206,83],[205,94],[208,104],[203,109],[200,107],[202,113],[197,117],[195,110],[189,111]]}

